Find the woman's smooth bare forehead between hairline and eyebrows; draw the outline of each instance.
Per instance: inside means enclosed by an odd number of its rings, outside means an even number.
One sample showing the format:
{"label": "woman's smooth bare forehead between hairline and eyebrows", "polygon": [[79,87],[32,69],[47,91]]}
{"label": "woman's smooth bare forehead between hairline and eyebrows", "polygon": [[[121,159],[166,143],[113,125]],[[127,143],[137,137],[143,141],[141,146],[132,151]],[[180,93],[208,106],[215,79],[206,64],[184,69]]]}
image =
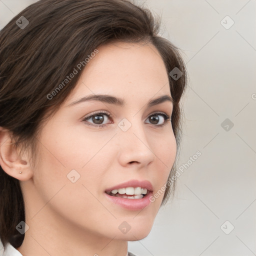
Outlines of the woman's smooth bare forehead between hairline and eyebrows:
{"label": "woman's smooth bare forehead between hairline and eyebrows", "polygon": [[67,103],[94,93],[127,100],[170,95],[164,62],[152,44],[118,42],[97,50],[86,63]]}

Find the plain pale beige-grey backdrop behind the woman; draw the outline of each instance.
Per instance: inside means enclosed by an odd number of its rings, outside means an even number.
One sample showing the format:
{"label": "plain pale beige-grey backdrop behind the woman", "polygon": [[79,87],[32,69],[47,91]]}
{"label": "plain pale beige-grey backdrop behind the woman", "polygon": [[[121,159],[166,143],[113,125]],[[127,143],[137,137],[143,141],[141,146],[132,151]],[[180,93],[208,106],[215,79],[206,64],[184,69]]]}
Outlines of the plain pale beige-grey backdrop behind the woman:
{"label": "plain pale beige-grey backdrop behind the woman", "polygon": [[[0,27],[32,2],[0,0]],[[162,15],[162,35],[182,50],[186,62],[178,163],[189,166],[150,234],[129,242],[129,250],[138,256],[251,256],[256,253],[256,1],[135,2]],[[226,15],[234,21],[229,29],[222,26],[231,24]],[[221,126],[226,118],[228,131]],[[201,155],[190,163],[197,150]]]}

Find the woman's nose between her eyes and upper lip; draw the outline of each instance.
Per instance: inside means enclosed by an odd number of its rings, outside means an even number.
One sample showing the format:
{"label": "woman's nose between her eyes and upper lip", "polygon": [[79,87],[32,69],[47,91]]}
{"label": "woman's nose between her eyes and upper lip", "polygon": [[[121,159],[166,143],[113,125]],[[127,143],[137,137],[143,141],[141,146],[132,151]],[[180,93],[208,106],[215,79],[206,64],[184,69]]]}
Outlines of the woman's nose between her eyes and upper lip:
{"label": "woman's nose between her eyes and upper lip", "polygon": [[[134,119],[133,119],[134,120]],[[128,130],[118,130],[118,160],[122,166],[137,164],[142,168],[155,159],[149,134],[145,133],[145,124],[141,120],[133,121]]]}

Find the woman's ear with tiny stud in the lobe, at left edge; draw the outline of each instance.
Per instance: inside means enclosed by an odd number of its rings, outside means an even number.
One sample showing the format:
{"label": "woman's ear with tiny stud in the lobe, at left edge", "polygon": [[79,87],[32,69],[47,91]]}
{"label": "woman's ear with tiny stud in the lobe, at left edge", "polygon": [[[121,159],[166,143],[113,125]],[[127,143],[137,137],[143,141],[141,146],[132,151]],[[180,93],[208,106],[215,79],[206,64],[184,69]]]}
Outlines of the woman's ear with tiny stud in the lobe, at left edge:
{"label": "woman's ear with tiny stud in the lobe, at left edge", "polygon": [[14,147],[9,130],[4,129],[1,126],[0,165],[8,175],[16,179],[28,180],[33,176],[33,172],[29,165],[28,156],[19,156],[17,150]]}

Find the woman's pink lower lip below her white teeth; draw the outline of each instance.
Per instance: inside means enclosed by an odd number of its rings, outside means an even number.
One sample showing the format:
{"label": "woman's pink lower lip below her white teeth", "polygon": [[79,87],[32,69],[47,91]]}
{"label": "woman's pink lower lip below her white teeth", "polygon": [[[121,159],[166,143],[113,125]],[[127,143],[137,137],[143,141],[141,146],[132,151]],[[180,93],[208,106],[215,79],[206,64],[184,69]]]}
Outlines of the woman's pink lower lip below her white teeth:
{"label": "woman's pink lower lip below her white teeth", "polygon": [[152,195],[152,192],[149,192],[143,198],[128,199],[128,198],[112,196],[112,195],[105,193],[105,196],[108,200],[120,205],[123,208],[129,209],[129,210],[141,210],[144,207],[146,207],[147,205],[149,205],[150,204],[149,197],[151,195]]}

